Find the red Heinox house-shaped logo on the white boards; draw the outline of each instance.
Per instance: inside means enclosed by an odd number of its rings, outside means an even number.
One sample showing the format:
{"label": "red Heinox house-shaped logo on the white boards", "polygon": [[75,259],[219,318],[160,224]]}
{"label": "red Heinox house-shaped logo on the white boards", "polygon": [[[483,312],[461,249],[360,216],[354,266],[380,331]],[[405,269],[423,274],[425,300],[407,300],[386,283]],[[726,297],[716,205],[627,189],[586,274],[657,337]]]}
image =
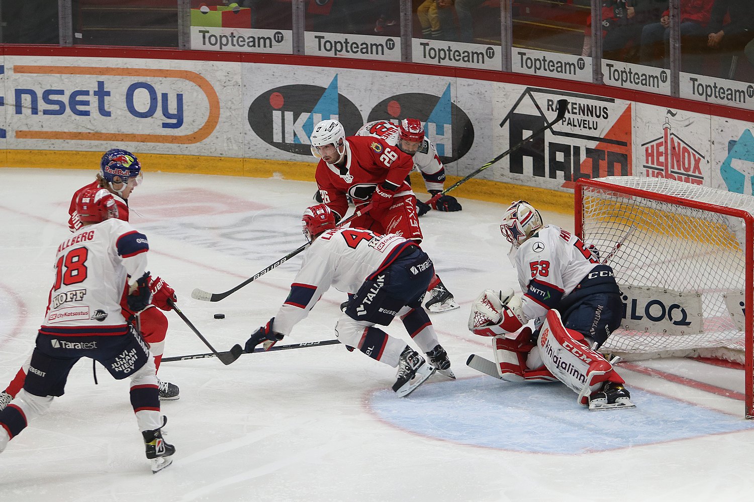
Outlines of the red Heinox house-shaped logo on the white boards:
{"label": "red Heinox house-shaped logo on the white boards", "polygon": [[701,165],[704,156],[689,145],[670,126],[676,112],[667,111],[663,132],[659,138],[642,144],[644,169],[647,178],[668,178],[691,184],[703,184]]}

